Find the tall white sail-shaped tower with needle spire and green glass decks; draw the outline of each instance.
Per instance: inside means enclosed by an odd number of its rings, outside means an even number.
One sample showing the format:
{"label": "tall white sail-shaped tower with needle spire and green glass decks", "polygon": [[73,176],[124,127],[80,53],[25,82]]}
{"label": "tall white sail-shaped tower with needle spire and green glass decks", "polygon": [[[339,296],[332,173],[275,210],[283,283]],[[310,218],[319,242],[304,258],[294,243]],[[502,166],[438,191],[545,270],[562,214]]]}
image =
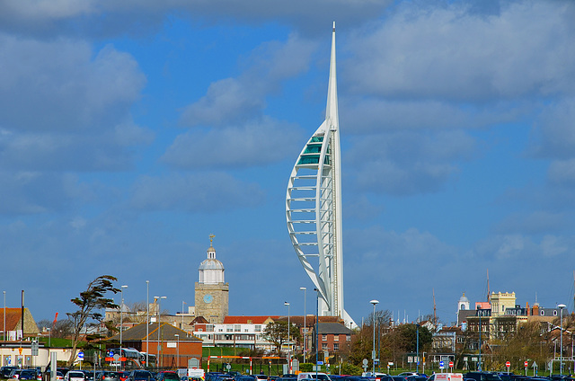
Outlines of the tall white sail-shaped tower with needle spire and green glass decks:
{"label": "tall white sail-shaped tower with needle spire and green glass decks", "polygon": [[319,291],[319,314],[340,316],[356,326],[343,308],[341,244],[341,155],[335,75],[335,22],[325,120],[309,139],[289,176],[286,218],[291,242]]}

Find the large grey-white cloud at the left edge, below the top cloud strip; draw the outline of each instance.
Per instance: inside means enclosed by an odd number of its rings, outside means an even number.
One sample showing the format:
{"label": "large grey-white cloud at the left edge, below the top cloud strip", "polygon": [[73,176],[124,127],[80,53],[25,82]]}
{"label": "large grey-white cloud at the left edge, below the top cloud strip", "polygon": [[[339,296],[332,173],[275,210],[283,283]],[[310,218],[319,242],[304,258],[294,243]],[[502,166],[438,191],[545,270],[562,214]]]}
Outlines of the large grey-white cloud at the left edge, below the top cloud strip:
{"label": "large grey-white cloud at the left edge, below the top cloud strip", "polygon": [[127,53],[3,34],[0,47],[4,170],[126,169],[127,148],[152,141],[130,115],[146,77]]}

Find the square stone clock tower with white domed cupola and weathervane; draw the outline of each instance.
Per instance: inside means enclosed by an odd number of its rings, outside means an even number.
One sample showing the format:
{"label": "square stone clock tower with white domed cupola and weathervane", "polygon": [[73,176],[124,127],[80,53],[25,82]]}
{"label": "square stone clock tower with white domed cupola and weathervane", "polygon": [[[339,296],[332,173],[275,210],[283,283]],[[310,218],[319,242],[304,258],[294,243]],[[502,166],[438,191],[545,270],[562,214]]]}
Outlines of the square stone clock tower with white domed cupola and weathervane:
{"label": "square stone clock tower with white domed cupola and weathervane", "polygon": [[229,285],[224,281],[224,264],[216,259],[215,235],[209,235],[208,258],[199,264],[196,282],[196,316],[209,323],[224,323],[228,312]]}

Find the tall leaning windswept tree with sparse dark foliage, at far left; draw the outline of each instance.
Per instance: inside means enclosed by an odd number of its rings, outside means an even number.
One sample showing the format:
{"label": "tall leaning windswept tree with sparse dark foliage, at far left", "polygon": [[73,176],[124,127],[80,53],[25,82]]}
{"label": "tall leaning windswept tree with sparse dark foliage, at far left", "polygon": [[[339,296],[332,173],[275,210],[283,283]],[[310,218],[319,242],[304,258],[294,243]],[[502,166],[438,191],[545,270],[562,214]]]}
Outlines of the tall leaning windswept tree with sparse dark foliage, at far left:
{"label": "tall leaning windswept tree with sparse dark foliage, at far left", "polygon": [[88,288],[80,293],[80,297],[71,299],[71,302],[78,307],[75,312],[67,313],[68,320],[73,324],[72,351],[68,359],[67,367],[74,363],[75,352],[80,332],[90,323],[100,322],[103,315],[100,313],[105,308],[118,308],[113,299],[106,297],[106,294],[119,292],[119,288],[114,287],[115,277],[111,275],[102,275],[88,284]]}

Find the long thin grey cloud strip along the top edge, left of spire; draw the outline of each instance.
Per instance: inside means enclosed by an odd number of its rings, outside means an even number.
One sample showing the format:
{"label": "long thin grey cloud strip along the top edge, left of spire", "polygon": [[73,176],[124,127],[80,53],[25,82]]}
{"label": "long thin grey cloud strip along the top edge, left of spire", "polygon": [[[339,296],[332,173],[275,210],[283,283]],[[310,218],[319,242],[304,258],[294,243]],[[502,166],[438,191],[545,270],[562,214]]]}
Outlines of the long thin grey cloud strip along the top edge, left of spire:
{"label": "long thin grey cloud strip along the top edge, left of spire", "polygon": [[202,22],[290,23],[305,32],[324,31],[332,22],[357,25],[381,14],[390,0],[293,0],[270,6],[267,0],[6,0],[0,27],[39,36],[54,34],[120,35],[149,33],[168,15]]}

